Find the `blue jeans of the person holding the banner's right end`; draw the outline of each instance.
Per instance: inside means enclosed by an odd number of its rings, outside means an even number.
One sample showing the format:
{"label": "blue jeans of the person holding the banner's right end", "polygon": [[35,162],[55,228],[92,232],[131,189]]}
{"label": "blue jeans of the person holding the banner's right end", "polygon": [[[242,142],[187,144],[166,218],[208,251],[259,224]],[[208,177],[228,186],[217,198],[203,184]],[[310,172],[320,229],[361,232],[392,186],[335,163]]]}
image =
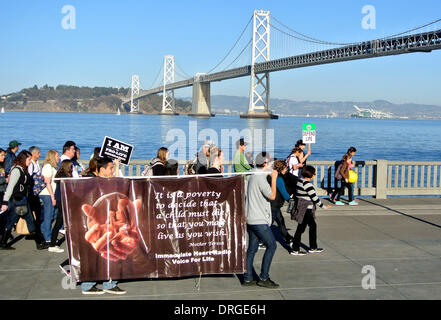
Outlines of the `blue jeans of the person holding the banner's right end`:
{"label": "blue jeans of the person holding the banner's right end", "polygon": [[271,228],[266,224],[247,224],[248,231],[248,250],[247,250],[247,272],[244,274],[245,281],[253,280],[254,256],[259,250],[259,240],[266,246],[262,260],[262,269],[259,275],[261,280],[269,278],[269,269],[277,249],[276,239]]}

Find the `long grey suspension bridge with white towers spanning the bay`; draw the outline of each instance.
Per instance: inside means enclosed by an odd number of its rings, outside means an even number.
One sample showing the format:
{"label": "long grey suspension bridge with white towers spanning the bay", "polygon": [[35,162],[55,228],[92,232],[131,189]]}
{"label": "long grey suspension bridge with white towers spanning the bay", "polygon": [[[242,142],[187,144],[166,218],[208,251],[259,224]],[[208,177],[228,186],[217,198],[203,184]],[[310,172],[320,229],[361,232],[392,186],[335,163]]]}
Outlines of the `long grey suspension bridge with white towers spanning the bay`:
{"label": "long grey suspension bridge with white towers spanning the bay", "polygon": [[[193,87],[192,112],[189,115],[210,117],[214,116],[210,102],[211,82],[249,76],[249,107],[248,112],[241,114],[241,117],[276,119],[278,116],[270,109],[271,72],[438,50],[441,49],[441,29],[434,28],[433,31],[425,32],[421,32],[421,29],[427,29],[440,21],[381,39],[339,43],[297,32],[271,17],[269,11],[255,10],[233,47],[211,70],[190,76],[176,64],[174,56],[167,55],[151,89],[141,90],[139,76],[132,75],[130,97],[123,101],[123,105],[130,105],[130,111],[137,113],[140,99],[162,93],[161,114],[177,115],[174,90]],[[251,37],[247,38],[245,35],[250,28]],[[175,78],[175,75],[181,80]]]}

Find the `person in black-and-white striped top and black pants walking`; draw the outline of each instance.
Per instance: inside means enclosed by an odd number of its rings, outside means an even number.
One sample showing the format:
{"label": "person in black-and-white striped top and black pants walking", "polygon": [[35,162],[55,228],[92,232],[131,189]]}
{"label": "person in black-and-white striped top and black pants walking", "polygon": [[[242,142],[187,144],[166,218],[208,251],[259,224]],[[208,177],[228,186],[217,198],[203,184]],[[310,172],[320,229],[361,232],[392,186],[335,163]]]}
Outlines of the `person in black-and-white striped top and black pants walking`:
{"label": "person in black-and-white striped top and black pants walking", "polygon": [[318,253],[323,251],[322,248],[318,248],[317,246],[315,210],[317,205],[325,210],[331,208],[331,206],[324,206],[317,197],[314,186],[311,183],[311,180],[315,175],[315,168],[312,166],[303,167],[302,175],[303,178],[300,178],[297,182],[297,203],[291,213],[291,220],[296,220],[299,223],[293,239],[293,251],[290,252],[290,254],[294,256],[306,255],[306,252],[300,251],[300,240],[302,233],[305,232],[306,226],[309,226],[309,252]]}

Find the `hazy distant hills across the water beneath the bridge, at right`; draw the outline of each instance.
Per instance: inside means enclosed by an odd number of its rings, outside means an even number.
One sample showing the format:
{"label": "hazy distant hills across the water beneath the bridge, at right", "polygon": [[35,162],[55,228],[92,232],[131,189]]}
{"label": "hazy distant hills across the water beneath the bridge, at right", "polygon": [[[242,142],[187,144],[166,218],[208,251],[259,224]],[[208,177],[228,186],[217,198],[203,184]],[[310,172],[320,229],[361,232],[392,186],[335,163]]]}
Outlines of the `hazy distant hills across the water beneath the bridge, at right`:
{"label": "hazy distant hills across the water beneath the bridge, at right", "polygon": [[[248,110],[249,98],[226,95],[211,96],[211,107],[215,112],[225,109],[237,112]],[[441,118],[441,106],[424,105],[417,103],[393,104],[385,100],[372,102],[323,102],[323,101],[292,101],[286,99],[271,99],[270,108],[278,114],[285,115],[332,115],[349,117],[355,112],[354,105],[360,108],[372,108],[378,111],[391,112],[396,117],[409,117],[415,119]]]}

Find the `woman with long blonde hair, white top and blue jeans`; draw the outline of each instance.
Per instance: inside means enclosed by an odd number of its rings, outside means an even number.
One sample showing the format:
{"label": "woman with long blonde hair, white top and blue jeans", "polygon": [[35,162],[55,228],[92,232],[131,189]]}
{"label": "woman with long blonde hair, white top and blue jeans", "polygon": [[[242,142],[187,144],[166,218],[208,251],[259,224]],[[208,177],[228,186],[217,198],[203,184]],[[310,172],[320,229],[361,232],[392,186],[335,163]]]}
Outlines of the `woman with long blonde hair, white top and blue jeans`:
{"label": "woman with long blonde hair, white top and blue jeans", "polygon": [[60,154],[56,150],[49,150],[46,153],[43,169],[41,171],[41,174],[44,177],[44,182],[46,182],[46,188],[44,188],[39,194],[41,201],[43,201],[43,221],[41,222],[41,233],[43,234],[44,240],[47,243],[51,241],[52,221],[56,218],[56,184],[54,182],[54,178],[57,173],[59,160]]}

